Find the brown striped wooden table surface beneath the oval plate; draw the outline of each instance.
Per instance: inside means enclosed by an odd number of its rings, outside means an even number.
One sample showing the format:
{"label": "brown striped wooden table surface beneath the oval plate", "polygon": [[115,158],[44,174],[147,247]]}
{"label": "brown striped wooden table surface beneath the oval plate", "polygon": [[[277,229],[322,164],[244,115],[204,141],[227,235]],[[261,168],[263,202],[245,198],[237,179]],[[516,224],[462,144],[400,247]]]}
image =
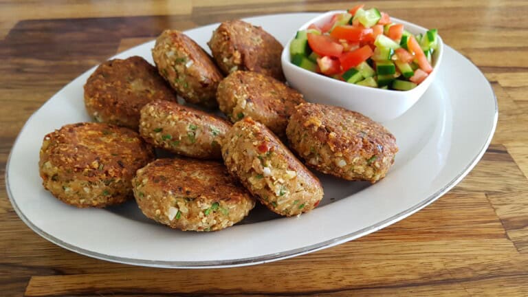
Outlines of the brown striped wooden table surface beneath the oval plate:
{"label": "brown striped wooden table surface beneath the oval plate", "polygon": [[[24,122],[90,67],[164,28],[349,2],[0,1],[0,172]],[[373,1],[438,28],[496,92],[498,127],[481,162],[437,202],[362,239],[294,259],[162,270],[91,259],[17,217],[0,181],[1,296],[528,296],[528,2]]]}

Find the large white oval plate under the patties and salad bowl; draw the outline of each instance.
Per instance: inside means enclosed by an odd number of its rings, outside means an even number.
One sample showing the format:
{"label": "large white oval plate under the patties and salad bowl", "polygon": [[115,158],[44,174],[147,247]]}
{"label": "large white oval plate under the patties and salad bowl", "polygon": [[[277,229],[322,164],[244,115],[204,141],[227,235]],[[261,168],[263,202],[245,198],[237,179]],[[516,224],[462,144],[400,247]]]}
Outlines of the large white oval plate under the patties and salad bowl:
{"label": "large white oval plate under the patties and salad bowl", "polygon": [[[283,44],[316,14],[247,19]],[[202,47],[217,24],[186,33]],[[153,41],[122,52],[152,63]],[[108,209],[78,209],[41,186],[43,136],[89,121],[83,85],[95,67],[58,91],[23,127],[6,169],[13,208],[32,230],[63,248],[107,261],[153,267],[233,267],[285,259],[344,243],[417,212],[457,184],[487,148],[497,121],[493,90],[461,54],[445,47],[443,65],[421,100],[387,122],[400,151],[390,173],[369,186],[320,176],[325,198],[316,210],[278,218],[262,207],[221,232],[180,232],[145,219],[134,201]],[[329,90],[330,91],[330,90]]]}

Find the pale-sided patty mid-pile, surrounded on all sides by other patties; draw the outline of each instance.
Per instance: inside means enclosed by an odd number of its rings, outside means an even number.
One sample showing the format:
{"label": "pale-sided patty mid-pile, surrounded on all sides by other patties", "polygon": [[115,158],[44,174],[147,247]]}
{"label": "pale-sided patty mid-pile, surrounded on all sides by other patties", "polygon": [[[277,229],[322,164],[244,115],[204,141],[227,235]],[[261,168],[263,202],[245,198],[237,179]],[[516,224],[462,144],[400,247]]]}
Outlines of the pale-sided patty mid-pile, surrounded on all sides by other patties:
{"label": "pale-sided patty mid-pile, surrounded on all sides by other patties", "polygon": [[175,102],[155,101],[141,110],[144,140],[188,157],[221,159],[220,144],[230,127],[217,116]]}

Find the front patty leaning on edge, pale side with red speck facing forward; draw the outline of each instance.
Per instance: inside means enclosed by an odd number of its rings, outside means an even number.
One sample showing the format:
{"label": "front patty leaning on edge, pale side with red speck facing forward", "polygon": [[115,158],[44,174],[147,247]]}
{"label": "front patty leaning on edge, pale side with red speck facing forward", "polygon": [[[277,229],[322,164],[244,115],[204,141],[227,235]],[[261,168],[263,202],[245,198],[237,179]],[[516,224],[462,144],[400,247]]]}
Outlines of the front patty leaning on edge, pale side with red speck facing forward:
{"label": "front patty leaning on edge, pale side with red speck facing forward", "polygon": [[273,212],[294,216],[318,206],[319,179],[267,129],[251,118],[236,122],[222,145],[225,166]]}

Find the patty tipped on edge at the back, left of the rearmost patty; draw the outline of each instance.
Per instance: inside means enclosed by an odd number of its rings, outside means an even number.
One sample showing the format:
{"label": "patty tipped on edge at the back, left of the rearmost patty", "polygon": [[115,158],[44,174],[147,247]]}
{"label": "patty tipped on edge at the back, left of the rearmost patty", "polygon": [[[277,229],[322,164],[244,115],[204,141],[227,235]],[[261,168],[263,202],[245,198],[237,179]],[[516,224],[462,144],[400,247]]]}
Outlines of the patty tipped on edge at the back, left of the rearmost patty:
{"label": "patty tipped on edge at the back, left of the rearmost patty", "polygon": [[165,30],[156,39],[152,57],[177,94],[192,104],[217,107],[218,83],[223,76],[212,58],[186,34]]}

